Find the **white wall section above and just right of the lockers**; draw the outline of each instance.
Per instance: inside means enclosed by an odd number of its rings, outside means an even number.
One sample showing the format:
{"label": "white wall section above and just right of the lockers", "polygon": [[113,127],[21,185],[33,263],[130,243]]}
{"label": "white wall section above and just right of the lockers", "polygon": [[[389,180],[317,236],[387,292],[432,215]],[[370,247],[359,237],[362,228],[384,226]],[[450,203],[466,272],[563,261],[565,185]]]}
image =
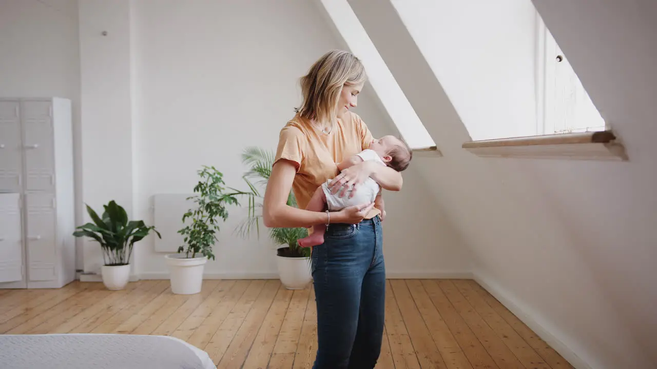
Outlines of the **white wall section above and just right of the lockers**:
{"label": "white wall section above and just right of the lockers", "polygon": [[[83,218],[78,2],[0,0],[0,54],[0,97],[55,96],[72,100],[79,224]],[[76,265],[81,268],[81,247],[76,255]]]}

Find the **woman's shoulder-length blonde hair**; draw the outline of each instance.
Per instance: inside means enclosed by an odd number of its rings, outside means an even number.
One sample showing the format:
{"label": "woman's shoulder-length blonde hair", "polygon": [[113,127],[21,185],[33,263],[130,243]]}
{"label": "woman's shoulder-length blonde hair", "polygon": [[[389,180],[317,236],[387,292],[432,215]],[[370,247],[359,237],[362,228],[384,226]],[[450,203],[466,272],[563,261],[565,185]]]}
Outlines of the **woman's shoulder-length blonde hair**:
{"label": "woman's shoulder-length blonde hair", "polygon": [[357,85],[366,79],[365,67],[356,56],[348,51],[328,51],[310,67],[306,76],[301,77],[303,100],[295,111],[306,119],[335,121],[342,87]]}

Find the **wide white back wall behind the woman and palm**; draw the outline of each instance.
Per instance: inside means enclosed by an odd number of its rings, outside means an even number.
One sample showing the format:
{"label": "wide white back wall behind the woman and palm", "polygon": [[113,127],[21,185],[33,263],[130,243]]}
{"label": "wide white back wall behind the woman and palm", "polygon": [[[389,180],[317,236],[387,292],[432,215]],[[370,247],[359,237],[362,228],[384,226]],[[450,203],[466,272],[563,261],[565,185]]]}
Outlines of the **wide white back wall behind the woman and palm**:
{"label": "wide white back wall behind the woman and palm", "polygon": [[[138,111],[134,214],[143,219],[152,219],[153,194],[191,191],[201,165],[215,165],[227,185],[245,188],[242,150],[275,148],[279,130],[300,102],[298,78],[321,54],[340,47],[310,2],[138,1],[131,16]],[[372,94],[368,86],[356,112],[376,135],[390,133],[392,124]],[[388,272],[468,271],[468,257],[447,219],[436,227],[428,211],[416,210],[420,204],[427,209],[426,190],[413,171],[407,173],[403,194],[386,194]],[[275,276],[275,251],[266,234],[260,242],[233,236],[245,213],[230,214],[215,247],[217,261],[206,272]],[[139,273],[166,276],[163,254],[147,242],[137,249]],[[409,259],[401,261],[402,256]]]}

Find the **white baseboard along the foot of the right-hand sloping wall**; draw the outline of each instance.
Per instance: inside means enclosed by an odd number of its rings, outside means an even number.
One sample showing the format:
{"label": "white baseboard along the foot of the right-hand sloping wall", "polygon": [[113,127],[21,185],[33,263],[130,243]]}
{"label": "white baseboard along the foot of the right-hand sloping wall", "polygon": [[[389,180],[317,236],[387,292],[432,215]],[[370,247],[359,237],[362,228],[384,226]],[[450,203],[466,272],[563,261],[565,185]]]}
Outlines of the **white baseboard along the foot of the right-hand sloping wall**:
{"label": "white baseboard along the foot of the right-hand sloping wall", "polygon": [[518,319],[522,320],[535,334],[537,334],[543,341],[547,342],[550,347],[555,349],[559,355],[568,360],[572,366],[576,369],[593,369],[591,365],[585,362],[581,357],[579,357],[568,345],[563,343],[558,339],[554,334],[552,334],[547,328],[541,325],[535,318],[532,318],[529,309],[522,308],[514,302],[514,298],[510,296],[510,293],[505,292],[499,285],[495,284],[491,278],[487,278],[480,273],[473,273],[474,280],[489,292],[493,297],[495,297],[499,302],[502,303],[513,315],[517,316]]}

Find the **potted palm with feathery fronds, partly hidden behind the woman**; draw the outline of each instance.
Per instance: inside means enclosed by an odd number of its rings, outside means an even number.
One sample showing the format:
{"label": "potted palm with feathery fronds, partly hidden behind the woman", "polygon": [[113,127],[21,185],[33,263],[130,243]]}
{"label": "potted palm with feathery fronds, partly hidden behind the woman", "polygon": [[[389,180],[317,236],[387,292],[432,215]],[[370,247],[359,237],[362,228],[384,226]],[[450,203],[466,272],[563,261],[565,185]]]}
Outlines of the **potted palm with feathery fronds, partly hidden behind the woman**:
{"label": "potted palm with feathery fronds, partly hidden behind the woman", "polygon": [[[260,195],[257,186],[266,185],[269,181],[274,157],[273,152],[257,147],[248,147],[242,153],[242,162],[249,167],[243,179],[250,188],[248,192],[242,192],[249,195],[248,217],[237,228],[243,237],[248,236],[253,227],[256,227],[260,235],[263,196]],[[288,195],[287,204],[298,207],[292,191]],[[304,289],[312,280],[310,248],[302,248],[297,242],[307,235],[306,228],[269,228],[269,236],[277,246],[281,246],[277,249],[277,268],[281,283],[289,290]]]}

